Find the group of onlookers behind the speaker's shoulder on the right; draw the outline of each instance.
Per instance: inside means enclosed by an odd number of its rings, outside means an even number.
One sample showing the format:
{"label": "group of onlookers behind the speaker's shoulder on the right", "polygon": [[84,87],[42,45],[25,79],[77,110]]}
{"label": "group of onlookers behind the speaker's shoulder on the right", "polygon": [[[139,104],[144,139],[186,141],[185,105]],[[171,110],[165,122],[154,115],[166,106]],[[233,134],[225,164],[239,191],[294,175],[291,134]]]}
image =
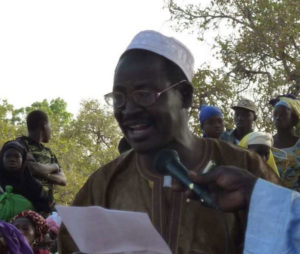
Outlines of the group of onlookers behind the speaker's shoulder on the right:
{"label": "group of onlookers behind the speaker's shoulder on the right", "polygon": [[269,102],[273,110],[276,133],[253,131],[257,110],[253,101],[241,99],[234,110],[236,128],[224,132],[223,114],[218,107],[202,106],[199,120],[203,137],[216,138],[259,154],[280,176],[284,186],[300,191],[300,100],[296,96],[280,95]]}

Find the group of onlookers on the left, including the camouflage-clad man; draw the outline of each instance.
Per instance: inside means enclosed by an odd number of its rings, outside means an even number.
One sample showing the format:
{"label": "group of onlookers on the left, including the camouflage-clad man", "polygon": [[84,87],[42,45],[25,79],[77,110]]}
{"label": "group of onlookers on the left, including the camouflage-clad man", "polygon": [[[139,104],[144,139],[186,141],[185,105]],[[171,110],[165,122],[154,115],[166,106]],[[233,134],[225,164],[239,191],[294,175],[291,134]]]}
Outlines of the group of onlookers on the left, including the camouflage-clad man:
{"label": "group of onlookers on the left, including the camouflage-clad man", "polygon": [[30,112],[27,129],[28,136],[6,142],[0,152],[0,250],[56,253],[60,221],[53,188],[66,185],[66,177],[53,152],[42,144],[51,136],[47,114]]}

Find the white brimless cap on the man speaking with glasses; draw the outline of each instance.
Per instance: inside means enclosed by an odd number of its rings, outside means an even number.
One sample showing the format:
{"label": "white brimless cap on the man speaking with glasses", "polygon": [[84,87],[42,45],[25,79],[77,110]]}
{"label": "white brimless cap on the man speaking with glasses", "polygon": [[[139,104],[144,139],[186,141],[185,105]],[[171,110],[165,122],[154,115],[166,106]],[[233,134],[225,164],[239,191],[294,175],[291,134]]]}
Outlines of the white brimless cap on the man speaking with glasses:
{"label": "white brimless cap on the man speaking with glasses", "polygon": [[194,57],[180,41],[156,31],[146,30],[133,38],[125,52],[131,49],[148,50],[169,59],[178,65],[189,81],[192,81]]}

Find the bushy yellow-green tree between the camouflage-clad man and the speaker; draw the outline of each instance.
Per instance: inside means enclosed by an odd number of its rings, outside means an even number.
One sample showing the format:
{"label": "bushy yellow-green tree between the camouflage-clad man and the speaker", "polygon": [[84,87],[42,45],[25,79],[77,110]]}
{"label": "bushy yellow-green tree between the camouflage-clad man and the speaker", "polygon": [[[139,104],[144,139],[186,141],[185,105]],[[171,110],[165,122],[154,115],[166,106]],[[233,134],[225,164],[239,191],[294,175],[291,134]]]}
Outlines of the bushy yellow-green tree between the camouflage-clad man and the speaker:
{"label": "bushy yellow-green tree between the camouflage-clad man and the speaker", "polygon": [[67,144],[59,159],[68,184],[58,187],[56,200],[70,203],[92,172],[118,156],[121,135],[112,112],[96,100],[86,100],[60,138]]}

